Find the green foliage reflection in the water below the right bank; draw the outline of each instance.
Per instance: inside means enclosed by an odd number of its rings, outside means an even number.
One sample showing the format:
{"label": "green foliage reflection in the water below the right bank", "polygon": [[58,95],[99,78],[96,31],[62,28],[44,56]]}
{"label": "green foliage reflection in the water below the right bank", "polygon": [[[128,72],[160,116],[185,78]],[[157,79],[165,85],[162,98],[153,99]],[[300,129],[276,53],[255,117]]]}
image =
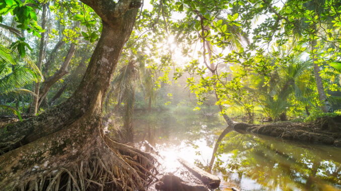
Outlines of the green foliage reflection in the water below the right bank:
{"label": "green foliage reflection in the water below the right bank", "polygon": [[[267,190],[339,190],[340,149],[305,148],[277,140],[230,132],[216,153],[215,169],[242,173]],[[229,153],[226,161],[219,154]],[[226,155],[225,155],[226,156]],[[229,169],[229,170],[226,170]],[[239,178],[240,179],[240,178]]]}

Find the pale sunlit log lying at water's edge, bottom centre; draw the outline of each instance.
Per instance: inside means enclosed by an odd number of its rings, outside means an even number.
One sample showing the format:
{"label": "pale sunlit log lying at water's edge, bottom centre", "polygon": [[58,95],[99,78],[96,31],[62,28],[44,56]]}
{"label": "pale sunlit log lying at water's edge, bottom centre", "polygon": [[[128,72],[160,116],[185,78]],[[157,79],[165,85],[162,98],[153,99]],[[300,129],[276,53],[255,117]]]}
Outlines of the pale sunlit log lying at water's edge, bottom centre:
{"label": "pale sunlit log lying at water's edge, bottom centre", "polygon": [[188,161],[178,158],[179,162],[189,169],[195,176],[197,176],[204,184],[210,188],[215,189],[220,185],[220,178],[213,174],[210,174],[203,169],[189,163]]}

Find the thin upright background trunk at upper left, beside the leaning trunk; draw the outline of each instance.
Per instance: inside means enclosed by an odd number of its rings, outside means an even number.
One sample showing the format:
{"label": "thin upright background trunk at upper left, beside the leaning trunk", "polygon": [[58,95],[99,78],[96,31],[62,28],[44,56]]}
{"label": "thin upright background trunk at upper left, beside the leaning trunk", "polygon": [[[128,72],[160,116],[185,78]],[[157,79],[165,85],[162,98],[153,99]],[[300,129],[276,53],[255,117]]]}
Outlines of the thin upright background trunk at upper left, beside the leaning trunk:
{"label": "thin upright background trunk at upper left, beside the leaning trunk", "polygon": [[[42,13],[42,22],[41,22],[41,28],[45,30],[45,25],[46,25],[46,9],[47,9],[47,4],[43,5],[43,13]],[[41,33],[41,38],[40,38],[40,45],[39,45],[39,55],[38,55],[38,61],[37,61],[37,67],[41,69],[41,64],[43,62],[43,58],[45,55],[45,32]],[[34,93],[35,95],[33,96],[33,101],[30,107],[30,114],[35,115],[37,114],[37,109],[38,109],[38,99],[39,99],[39,87],[40,87],[40,82],[37,82],[34,85]]]}

